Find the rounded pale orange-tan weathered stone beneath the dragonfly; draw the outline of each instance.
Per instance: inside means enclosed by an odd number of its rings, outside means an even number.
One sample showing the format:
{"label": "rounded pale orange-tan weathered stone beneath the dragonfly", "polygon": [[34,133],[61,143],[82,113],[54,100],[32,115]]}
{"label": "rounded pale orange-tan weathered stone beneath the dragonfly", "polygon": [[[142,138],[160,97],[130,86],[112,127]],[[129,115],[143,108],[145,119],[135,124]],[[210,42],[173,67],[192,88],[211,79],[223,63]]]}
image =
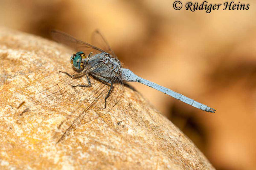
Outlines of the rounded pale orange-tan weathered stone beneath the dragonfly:
{"label": "rounded pale orange-tan weathered stone beneath the dragonfly", "polygon": [[73,72],[70,54],[55,42],[0,28],[0,169],[214,169],[172,122],[127,87],[111,112],[87,113],[56,144],[61,122],[76,117],[93,89],[66,87],[44,98],[42,91],[63,87],[59,82],[67,76],[58,71]]}

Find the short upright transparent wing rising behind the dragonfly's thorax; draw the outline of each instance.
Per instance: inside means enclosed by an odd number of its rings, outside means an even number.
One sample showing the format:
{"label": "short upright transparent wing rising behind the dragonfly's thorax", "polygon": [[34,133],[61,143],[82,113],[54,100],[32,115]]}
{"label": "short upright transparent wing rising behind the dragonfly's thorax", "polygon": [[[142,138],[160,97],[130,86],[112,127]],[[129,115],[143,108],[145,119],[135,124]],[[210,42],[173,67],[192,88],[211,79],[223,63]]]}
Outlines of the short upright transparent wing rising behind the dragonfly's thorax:
{"label": "short upright transparent wing rising behind the dragonfly's thorax", "polygon": [[96,29],[95,31],[93,31],[91,41],[92,41],[93,45],[101,48],[102,50],[104,50],[108,54],[111,54],[113,57],[115,57],[117,59],[116,54],[110,48],[110,45],[108,44],[107,40],[105,39],[105,37],[101,34],[101,32],[99,30]]}

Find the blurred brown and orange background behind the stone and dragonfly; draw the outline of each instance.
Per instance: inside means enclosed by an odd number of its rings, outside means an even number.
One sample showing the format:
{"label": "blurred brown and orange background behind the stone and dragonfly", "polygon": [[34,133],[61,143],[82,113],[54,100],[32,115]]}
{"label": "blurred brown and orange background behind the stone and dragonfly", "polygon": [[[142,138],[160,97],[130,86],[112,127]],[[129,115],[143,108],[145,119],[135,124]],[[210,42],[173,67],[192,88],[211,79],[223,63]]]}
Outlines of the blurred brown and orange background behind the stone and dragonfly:
{"label": "blurred brown and orange background behind the stone and dragonfly", "polygon": [[[210,14],[176,11],[173,2],[1,0],[0,26],[47,38],[55,28],[87,42],[99,28],[125,67],[217,110],[206,113],[131,84],[216,169],[256,169],[256,2],[241,0],[250,3],[247,11]],[[181,2],[184,6],[188,1]]]}

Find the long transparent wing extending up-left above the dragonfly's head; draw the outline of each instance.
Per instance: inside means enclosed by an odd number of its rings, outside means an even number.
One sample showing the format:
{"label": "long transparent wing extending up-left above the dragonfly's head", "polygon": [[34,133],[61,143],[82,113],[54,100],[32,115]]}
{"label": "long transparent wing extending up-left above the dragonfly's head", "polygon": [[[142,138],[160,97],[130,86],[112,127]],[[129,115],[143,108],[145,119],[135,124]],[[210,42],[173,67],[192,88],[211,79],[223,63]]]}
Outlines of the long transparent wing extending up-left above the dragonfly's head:
{"label": "long transparent wing extending up-left above the dragonfly's head", "polygon": [[89,54],[90,52],[93,52],[93,54],[104,52],[104,50],[96,46],[90,45],[87,42],[83,42],[81,40],[77,40],[71,35],[61,31],[52,30],[51,35],[53,40],[61,44],[67,45],[70,48],[73,48],[76,52],[83,51],[85,54]]}

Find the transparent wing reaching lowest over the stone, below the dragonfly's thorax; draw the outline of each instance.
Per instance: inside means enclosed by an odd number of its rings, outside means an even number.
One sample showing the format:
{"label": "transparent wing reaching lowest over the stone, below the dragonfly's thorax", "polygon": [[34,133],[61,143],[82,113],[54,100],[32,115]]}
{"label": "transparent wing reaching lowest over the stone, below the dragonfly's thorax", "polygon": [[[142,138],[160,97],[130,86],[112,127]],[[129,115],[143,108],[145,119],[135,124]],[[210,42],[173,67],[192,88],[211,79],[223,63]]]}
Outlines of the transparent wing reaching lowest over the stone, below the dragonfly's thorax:
{"label": "transparent wing reaching lowest over the stone, below the dragonfly's thorax", "polygon": [[[109,71],[111,75],[111,71]],[[75,129],[84,129],[81,125],[85,125],[99,117],[108,114],[112,108],[119,102],[123,95],[123,82],[120,79],[119,73],[111,79],[113,82],[113,88],[111,94],[107,99],[107,105],[105,107],[105,97],[107,96],[110,85],[104,81],[97,82],[97,85],[92,85],[91,95],[86,101],[82,102],[79,106],[79,112],[72,113],[72,115],[66,119],[58,127],[54,137],[57,139],[57,143],[64,140],[70,133],[74,132]],[[79,90],[82,90],[81,87]],[[82,110],[81,110],[82,109]]]}

